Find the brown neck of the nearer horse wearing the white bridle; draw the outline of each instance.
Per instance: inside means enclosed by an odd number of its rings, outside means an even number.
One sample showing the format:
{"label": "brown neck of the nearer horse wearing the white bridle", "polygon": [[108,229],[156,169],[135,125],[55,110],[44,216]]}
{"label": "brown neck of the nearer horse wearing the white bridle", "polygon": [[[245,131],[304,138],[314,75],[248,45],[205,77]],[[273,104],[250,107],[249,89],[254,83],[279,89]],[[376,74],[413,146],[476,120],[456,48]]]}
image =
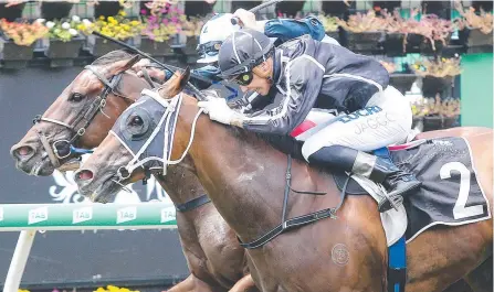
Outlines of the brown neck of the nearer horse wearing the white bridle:
{"label": "brown neck of the nearer horse wearing the white bridle", "polygon": [[[183,123],[178,122],[179,127]],[[180,130],[190,131],[188,127]],[[214,206],[243,241],[255,239],[281,223],[287,165],[285,154],[255,137],[246,139],[201,117],[189,152]],[[298,186],[314,187],[305,165],[295,162],[293,174],[301,179]],[[294,209],[311,212],[314,199],[317,198],[311,195],[290,195],[288,215]],[[299,204],[301,201],[307,204]]]}

